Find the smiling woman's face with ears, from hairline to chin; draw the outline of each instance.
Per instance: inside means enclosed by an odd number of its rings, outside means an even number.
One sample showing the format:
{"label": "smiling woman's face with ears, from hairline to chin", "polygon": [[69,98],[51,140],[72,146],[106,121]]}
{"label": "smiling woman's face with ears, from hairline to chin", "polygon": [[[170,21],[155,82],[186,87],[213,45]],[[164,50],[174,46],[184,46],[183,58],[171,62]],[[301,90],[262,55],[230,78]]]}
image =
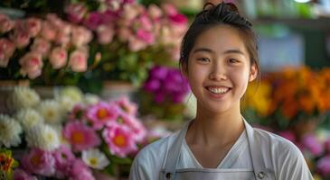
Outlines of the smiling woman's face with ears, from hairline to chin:
{"label": "smiling woman's face with ears, from hairline to chin", "polygon": [[239,31],[229,25],[217,25],[197,38],[184,73],[197,98],[197,107],[221,113],[240,110],[240,98],[258,71],[250,65]]}

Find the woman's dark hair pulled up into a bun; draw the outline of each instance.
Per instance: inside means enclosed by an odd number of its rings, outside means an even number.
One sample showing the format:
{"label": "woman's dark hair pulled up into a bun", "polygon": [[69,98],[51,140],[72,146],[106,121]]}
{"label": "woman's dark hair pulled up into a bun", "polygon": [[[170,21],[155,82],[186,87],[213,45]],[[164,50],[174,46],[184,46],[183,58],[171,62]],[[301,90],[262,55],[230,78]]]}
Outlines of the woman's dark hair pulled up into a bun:
{"label": "woman's dark hair pulled up into a bun", "polygon": [[[209,6],[211,8],[207,8]],[[207,3],[204,5],[203,11],[197,14],[184,35],[180,51],[180,67],[184,66],[187,69],[189,54],[193,49],[195,41],[203,31],[221,24],[228,24],[240,32],[240,36],[244,40],[244,44],[250,55],[250,64],[252,65],[254,63],[259,71],[258,46],[255,33],[251,28],[252,24],[246,18],[242,17],[236,5],[231,3],[217,5]]]}

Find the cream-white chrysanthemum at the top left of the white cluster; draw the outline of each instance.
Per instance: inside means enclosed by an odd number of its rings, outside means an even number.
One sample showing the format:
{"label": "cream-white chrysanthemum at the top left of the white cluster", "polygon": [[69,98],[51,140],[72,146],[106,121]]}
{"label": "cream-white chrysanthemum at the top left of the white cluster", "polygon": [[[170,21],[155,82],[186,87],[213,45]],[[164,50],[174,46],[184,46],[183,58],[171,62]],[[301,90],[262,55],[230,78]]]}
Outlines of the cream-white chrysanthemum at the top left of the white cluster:
{"label": "cream-white chrysanthemum at the top left of the white cluster", "polygon": [[16,86],[12,95],[12,103],[17,109],[33,107],[40,102],[40,95],[29,87]]}

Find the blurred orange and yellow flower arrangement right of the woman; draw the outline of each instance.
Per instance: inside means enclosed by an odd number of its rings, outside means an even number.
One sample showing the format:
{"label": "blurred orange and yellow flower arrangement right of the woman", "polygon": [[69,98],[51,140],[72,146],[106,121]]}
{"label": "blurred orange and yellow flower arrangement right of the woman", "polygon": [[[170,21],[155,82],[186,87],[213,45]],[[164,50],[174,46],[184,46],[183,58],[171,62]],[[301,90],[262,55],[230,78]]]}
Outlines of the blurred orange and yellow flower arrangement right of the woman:
{"label": "blurred orange and yellow flower arrangement right of the woman", "polygon": [[257,119],[268,118],[279,129],[319,117],[330,111],[329,75],[326,67],[319,71],[299,67],[269,73],[259,85],[250,85],[245,107],[254,110]]}

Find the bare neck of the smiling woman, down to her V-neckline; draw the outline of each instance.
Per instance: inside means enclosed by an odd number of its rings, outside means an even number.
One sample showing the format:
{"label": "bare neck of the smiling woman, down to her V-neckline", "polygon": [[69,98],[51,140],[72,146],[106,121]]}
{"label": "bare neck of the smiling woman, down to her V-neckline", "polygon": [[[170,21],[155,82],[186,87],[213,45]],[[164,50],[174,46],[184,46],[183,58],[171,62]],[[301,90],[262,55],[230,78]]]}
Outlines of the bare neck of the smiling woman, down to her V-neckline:
{"label": "bare neck of the smiling woman, down to her V-neckline", "polygon": [[221,113],[197,107],[196,118],[188,129],[186,139],[206,147],[224,146],[235,142],[244,129],[240,106]]}

